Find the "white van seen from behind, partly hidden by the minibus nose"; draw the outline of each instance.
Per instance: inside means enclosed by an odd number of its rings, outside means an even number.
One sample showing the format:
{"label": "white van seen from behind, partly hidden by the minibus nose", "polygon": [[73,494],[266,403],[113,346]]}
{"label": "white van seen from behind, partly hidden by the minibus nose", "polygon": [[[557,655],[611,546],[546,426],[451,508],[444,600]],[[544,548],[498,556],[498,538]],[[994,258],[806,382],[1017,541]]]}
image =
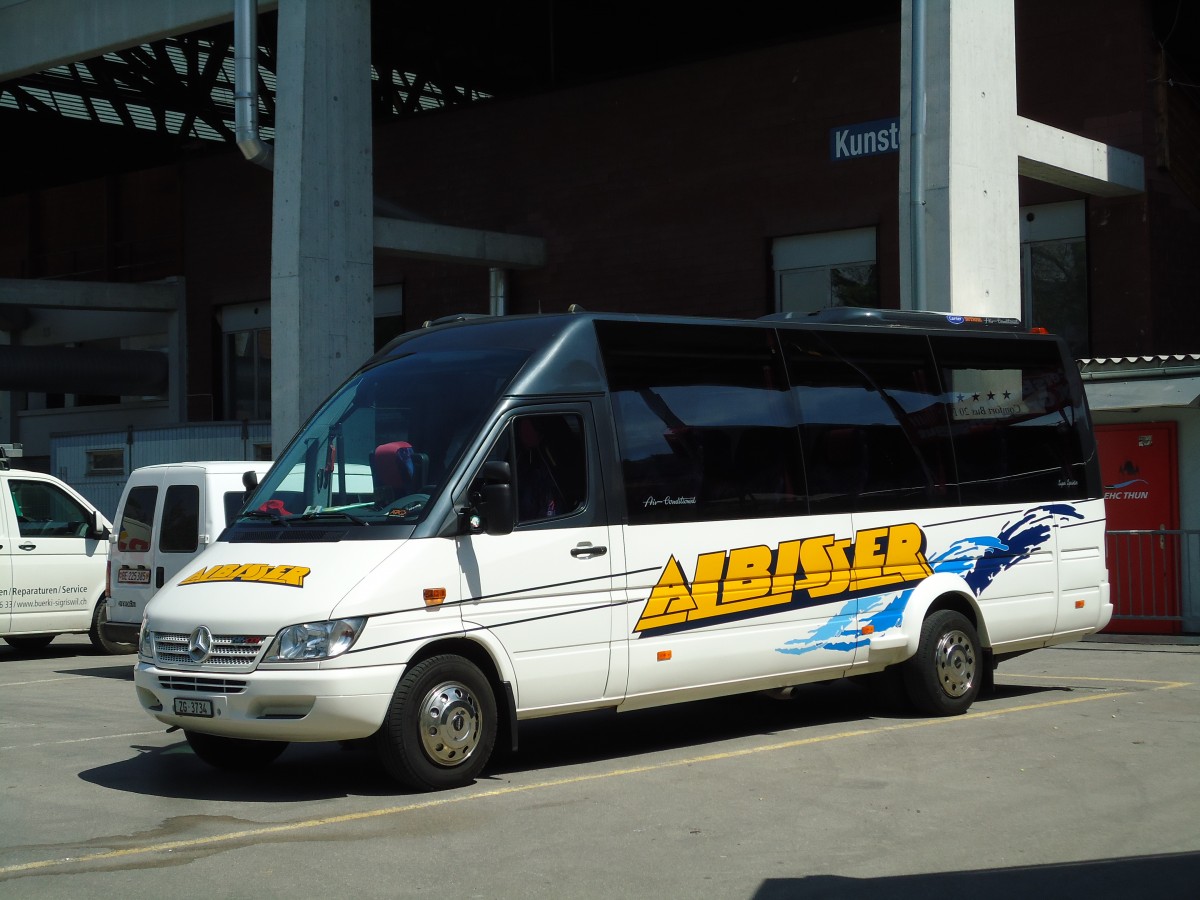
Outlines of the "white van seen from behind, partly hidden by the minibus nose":
{"label": "white van seen from behind, partly hidden by the minibus nose", "polygon": [[146,604],[236,517],[270,462],[221,461],[143,466],[116,506],[109,548],[109,641],[137,643]]}

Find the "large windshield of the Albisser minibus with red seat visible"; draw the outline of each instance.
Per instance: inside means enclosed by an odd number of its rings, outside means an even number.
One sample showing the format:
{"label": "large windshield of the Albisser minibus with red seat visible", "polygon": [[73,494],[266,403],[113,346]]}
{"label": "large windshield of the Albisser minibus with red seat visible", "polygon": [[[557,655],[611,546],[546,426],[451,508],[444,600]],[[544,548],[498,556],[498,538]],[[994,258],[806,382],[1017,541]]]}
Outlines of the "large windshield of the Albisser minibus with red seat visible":
{"label": "large windshield of the Albisser minibus with red seat visible", "polygon": [[527,356],[409,353],[360,372],[310,420],[239,521],[420,521]]}

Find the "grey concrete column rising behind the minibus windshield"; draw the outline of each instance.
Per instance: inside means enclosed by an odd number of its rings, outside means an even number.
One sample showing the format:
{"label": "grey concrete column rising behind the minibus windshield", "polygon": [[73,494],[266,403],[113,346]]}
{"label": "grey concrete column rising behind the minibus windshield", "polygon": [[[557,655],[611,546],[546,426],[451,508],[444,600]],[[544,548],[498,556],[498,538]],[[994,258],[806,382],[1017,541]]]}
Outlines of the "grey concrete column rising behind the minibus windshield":
{"label": "grey concrete column rising behind the minibus windshield", "polygon": [[280,4],[271,235],[276,454],[373,349],[370,0]]}

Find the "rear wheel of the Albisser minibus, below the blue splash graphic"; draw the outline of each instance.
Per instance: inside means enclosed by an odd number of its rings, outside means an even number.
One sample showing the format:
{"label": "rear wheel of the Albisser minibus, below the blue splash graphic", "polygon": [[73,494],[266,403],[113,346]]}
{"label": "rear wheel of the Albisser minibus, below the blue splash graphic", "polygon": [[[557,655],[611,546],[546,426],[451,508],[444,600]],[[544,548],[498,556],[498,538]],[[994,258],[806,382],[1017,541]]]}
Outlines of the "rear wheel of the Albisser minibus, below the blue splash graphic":
{"label": "rear wheel of the Albisser minibus, below the blue splash graphic", "polygon": [[908,700],[926,715],[960,715],[979,695],[984,665],[974,625],[960,612],[937,610],[922,624],[917,653],[904,664]]}

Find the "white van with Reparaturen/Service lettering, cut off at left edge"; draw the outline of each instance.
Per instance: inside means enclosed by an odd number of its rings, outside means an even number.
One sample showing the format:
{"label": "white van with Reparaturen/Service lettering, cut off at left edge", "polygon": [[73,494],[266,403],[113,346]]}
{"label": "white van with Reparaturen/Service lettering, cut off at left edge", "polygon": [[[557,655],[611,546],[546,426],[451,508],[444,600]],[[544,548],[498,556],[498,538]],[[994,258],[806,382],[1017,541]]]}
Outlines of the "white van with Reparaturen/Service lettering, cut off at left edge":
{"label": "white van with Reparaturen/Service lettering, cut off at left edge", "polygon": [[137,636],[103,634],[112,524],[53,475],[8,468],[0,452],[0,637],[22,650],[56,635],[88,635],[104,653],[132,653]]}

